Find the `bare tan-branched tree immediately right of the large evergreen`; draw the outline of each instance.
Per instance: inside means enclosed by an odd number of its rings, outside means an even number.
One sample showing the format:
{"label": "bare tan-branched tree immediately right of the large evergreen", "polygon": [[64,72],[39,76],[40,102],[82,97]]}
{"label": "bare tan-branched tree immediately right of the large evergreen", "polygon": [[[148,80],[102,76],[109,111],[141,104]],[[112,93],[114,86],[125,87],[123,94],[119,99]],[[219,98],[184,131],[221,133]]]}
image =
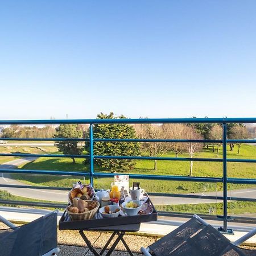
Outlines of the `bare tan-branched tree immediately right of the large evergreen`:
{"label": "bare tan-branched tree immediately right of the large evergreen", "polygon": [[[167,128],[163,125],[151,125],[150,123],[136,125],[137,135],[141,139],[168,139]],[[161,156],[171,150],[171,143],[167,142],[143,142],[142,150],[150,156]],[[157,170],[157,162],[154,160],[154,170]]]}

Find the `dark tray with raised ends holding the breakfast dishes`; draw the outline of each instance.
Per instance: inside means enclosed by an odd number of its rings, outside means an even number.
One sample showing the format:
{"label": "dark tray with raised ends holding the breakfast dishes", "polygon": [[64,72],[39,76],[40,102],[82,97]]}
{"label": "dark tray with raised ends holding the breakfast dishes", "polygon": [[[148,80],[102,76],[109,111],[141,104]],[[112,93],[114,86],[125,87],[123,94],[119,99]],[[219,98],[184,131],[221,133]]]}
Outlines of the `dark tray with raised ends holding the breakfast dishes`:
{"label": "dark tray with raised ends holding the breakfast dishes", "polygon": [[141,222],[158,220],[158,213],[156,212],[156,209],[149,198],[146,203],[152,206],[152,213],[137,214],[134,216],[119,216],[115,218],[93,218],[91,220],[72,221],[69,218],[68,213],[65,211],[59,221],[59,230],[82,230],[106,226],[137,224]]}

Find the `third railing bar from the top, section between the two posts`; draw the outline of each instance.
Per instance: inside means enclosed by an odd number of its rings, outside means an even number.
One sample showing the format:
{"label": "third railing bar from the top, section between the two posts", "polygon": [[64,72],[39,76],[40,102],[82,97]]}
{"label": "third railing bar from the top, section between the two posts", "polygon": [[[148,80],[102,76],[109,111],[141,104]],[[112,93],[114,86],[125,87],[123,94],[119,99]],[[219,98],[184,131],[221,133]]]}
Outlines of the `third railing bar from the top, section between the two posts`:
{"label": "third railing bar from the top, section between the two posts", "polygon": [[135,159],[135,160],[172,160],[172,161],[199,161],[199,162],[222,162],[220,158],[166,158],[158,156],[111,156],[94,155],[94,159]]}

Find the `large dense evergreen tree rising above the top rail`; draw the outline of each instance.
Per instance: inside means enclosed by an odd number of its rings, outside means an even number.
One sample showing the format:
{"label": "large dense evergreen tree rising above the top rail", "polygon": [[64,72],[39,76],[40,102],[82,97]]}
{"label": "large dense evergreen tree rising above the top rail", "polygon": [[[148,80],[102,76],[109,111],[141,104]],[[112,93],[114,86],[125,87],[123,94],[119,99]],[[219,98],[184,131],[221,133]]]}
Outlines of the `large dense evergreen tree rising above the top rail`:
{"label": "large dense evergreen tree rising above the top rail", "polygon": [[[121,115],[115,117],[114,113],[97,115],[100,119],[126,118]],[[126,123],[96,124],[93,127],[94,138],[102,139],[135,139],[134,127]],[[137,142],[95,142],[94,155],[110,156],[138,156],[140,154],[139,143]],[[134,167],[135,161],[131,159],[95,159],[95,162],[102,168],[108,168],[111,172],[130,170]]]}

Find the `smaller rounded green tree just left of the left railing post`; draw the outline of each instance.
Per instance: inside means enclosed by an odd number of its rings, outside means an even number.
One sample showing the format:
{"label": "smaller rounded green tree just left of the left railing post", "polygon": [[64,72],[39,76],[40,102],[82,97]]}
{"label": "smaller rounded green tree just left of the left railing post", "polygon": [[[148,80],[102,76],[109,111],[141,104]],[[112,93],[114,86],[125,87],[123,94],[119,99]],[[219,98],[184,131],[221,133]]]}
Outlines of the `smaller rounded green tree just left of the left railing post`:
{"label": "smaller rounded green tree just left of the left railing post", "polygon": [[[82,131],[77,129],[77,125],[60,125],[56,128],[55,138],[82,138]],[[82,148],[77,141],[56,141],[55,146],[65,155],[80,155]],[[76,163],[75,158],[71,158]]]}

